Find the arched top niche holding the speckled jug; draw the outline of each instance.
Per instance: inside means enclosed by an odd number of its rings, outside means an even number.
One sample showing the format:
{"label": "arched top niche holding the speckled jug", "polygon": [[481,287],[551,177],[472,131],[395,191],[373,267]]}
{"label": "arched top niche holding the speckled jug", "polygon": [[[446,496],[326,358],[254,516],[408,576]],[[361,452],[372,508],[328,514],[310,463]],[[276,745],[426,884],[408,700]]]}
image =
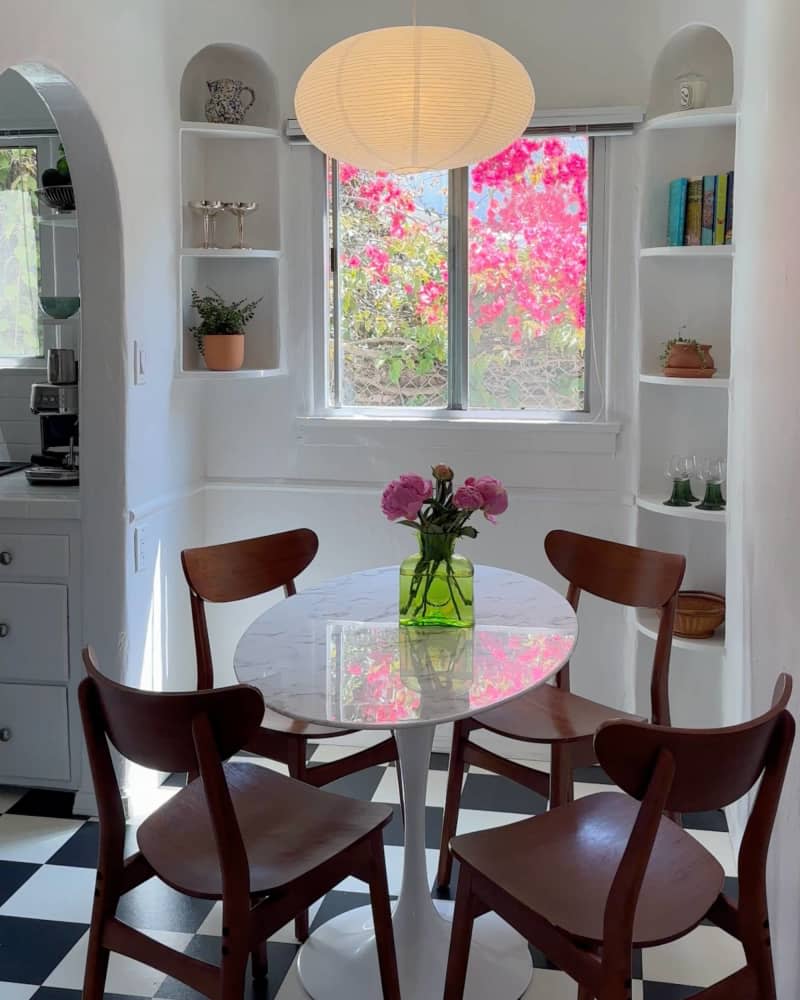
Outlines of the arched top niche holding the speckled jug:
{"label": "arched top niche holding the speckled jug", "polygon": [[187,63],[181,78],[182,121],[206,120],[207,83],[221,77],[241,80],[255,91],[255,103],[245,115],[244,124],[279,127],[278,87],[274,74],[257,52],[244,45],[228,43],[207,45]]}

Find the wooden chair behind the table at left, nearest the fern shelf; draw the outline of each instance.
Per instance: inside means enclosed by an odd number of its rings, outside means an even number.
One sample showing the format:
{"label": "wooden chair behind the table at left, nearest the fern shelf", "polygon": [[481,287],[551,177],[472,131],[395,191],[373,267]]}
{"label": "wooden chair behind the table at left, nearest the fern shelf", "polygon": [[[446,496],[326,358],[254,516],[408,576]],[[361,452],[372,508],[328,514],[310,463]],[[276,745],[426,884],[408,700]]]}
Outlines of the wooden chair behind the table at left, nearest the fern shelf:
{"label": "wooden chair behind the table at left, nearest the fern shelf", "polygon": [[[286,597],[292,597],[297,593],[295,577],[311,563],[318,548],[319,540],[313,531],[309,528],[297,528],[260,538],[184,549],[181,564],[189,584],[199,690],[204,691],[214,686],[206,601],[228,604],[267,594],[279,587],[283,588]],[[358,750],[339,760],[309,766],[309,740],[331,739],[335,736],[347,736],[352,732],[350,729],[298,722],[266,708],[261,726],[251,735],[245,749],[286,764],[291,777],[316,788],[368,767],[397,761],[397,745],[391,736],[375,746]],[[398,784],[399,779],[398,769]],[[308,937],[307,913],[298,916],[295,933],[299,941],[305,941]]]}

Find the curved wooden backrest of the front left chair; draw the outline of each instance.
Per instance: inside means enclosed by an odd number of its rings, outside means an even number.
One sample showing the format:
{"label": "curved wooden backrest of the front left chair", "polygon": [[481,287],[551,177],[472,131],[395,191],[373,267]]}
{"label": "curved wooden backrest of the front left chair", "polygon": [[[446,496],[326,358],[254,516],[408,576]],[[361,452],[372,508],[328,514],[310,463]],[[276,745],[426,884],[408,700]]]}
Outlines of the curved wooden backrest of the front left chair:
{"label": "curved wooden backrest of the front left chair", "polygon": [[[215,691],[139,691],[103,676],[91,648],[83,651],[84,728],[107,736],[127,760],[157,771],[197,771],[192,726],[204,716],[221,759],[240,750],[264,716],[260,691],[243,684]],[[87,733],[87,744],[92,745]]]}

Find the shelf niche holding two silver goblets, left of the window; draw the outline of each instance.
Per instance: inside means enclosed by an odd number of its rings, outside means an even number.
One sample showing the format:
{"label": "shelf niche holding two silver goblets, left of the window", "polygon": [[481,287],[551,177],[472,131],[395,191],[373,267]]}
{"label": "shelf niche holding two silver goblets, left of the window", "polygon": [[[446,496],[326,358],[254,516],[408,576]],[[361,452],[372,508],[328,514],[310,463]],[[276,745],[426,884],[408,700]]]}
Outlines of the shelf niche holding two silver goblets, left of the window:
{"label": "shelf niche holding two silver goblets, left of the window", "polygon": [[[240,142],[223,133],[206,134],[181,129],[181,246],[202,245],[202,216],[190,201],[255,201],[258,208],[245,216],[245,243],[257,250],[280,248],[278,197],[278,142],[274,138]],[[236,218],[216,216],[216,243],[228,249],[237,242]]]}

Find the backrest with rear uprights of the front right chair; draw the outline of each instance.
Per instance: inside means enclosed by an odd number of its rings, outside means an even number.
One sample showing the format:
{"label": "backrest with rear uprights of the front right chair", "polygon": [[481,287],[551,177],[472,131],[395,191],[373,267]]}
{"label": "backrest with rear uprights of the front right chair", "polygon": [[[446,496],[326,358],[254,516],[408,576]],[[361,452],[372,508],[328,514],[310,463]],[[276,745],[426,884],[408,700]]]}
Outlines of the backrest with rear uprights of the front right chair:
{"label": "backrest with rear uprights of the front right chair", "polygon": [[[786,709],[791,691],[791,678],[782,674],[768,712],[726,729],[674,729],[623,721],[607,722],[598,729],[598,760],[624,791],[642,801],[606,903],[603,963],[609,969],[630,967],[639,893],[663,812],[720,809],[749,792],[760,778],[739,851],[738,911],[727,899],[716,904],[726,914],[720,926],[726,927],[727,921],[748,958],[758,954],[769,919],[767,853],[794,742],[794,719]],[[664,906],[669,903],[663,901]],[[712,987],[709,997],[744,996],[738,990],[728,992],[723,983],[717,985],[720,989]]]}

